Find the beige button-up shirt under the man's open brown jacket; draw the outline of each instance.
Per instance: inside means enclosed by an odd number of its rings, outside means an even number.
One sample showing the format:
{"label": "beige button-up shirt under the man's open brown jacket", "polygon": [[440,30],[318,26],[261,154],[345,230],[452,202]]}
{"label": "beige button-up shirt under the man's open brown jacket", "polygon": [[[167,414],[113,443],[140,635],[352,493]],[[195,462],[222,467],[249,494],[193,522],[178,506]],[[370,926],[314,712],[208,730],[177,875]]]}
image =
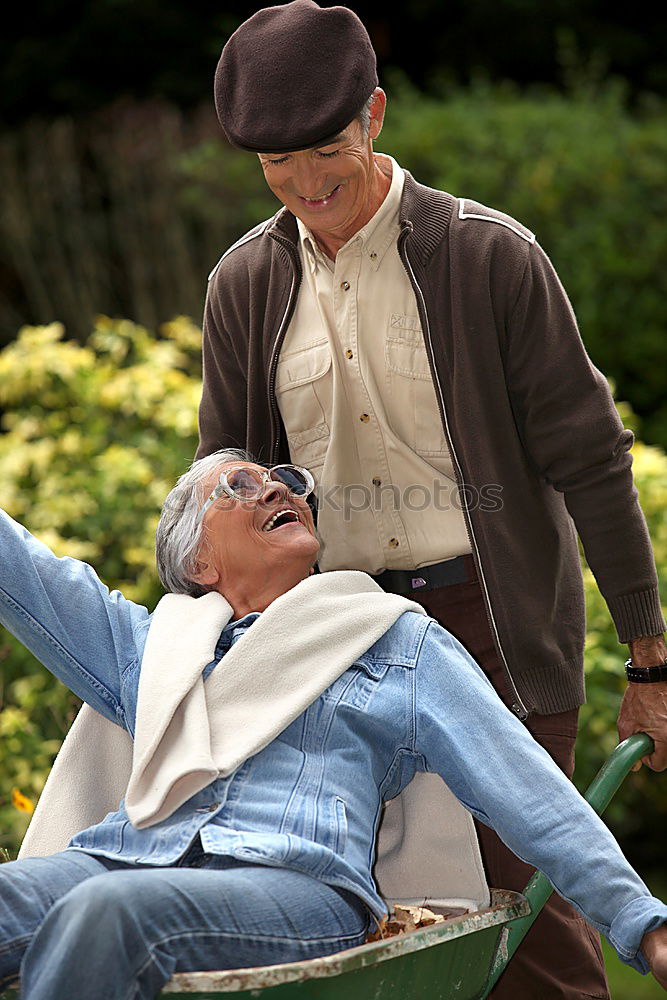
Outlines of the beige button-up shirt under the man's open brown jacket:
{"label": "beige button-up shirt under the man's open brown jacket", "polygon": [[398,256],[404,174],[330,260],[298,221],[303,282],[276,392],[311,470],[322,570],[417,569],[470,552],[417,304]]}

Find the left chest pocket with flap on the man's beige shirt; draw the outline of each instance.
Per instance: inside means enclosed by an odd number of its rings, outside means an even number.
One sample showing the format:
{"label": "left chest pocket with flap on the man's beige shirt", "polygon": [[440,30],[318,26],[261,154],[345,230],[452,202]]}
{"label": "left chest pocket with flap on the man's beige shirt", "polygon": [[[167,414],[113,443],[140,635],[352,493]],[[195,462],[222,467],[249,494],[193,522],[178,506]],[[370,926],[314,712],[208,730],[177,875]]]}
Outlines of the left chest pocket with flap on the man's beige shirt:
{"label": "left chest pocket with flap on the man's beige shirt", "polygon": [[332,375],[327,340],[280,354],[276,395],[292,461],[316,469],[324,463],[330,437]]}

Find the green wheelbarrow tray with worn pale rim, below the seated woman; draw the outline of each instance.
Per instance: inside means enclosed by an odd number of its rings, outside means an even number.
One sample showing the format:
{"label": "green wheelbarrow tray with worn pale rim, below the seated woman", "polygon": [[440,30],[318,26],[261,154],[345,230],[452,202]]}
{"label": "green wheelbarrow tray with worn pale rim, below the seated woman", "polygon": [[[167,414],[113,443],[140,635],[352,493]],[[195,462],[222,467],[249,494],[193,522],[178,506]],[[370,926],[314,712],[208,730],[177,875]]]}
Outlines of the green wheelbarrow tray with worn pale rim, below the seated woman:
{"label": "green wheelbarrow tray with worn pale rim, below the seated woman", "polygon": [[[405,996],[410,1000],[475,1000],[484,994],[505,925],[526,916],[518,892],[491,890],[491,905],[335,955],[224,972],[179,972],[159,994],[219,1000],[342,1000]],[[428,953],[424,952],[428,949]],[[391,961],[389,961],[391,959]],[[0,998],[2,1000],[2,998]]]}

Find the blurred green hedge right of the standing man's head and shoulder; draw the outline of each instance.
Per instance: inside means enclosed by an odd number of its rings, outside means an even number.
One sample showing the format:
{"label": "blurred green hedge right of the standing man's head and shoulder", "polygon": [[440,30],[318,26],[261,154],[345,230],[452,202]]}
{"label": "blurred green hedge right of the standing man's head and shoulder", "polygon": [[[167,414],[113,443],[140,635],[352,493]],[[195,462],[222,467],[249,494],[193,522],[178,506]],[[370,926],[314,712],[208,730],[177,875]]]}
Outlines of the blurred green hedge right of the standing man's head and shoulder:
{"label": "blurred green hedge right of the standing man's head and shoulder", "polygon": [[389,96],[378,149],[537,234],[593,360],[667,447],[664,103],[630,112],[618,81],[567,95],[477,83],[436,99],[397,77]]}

